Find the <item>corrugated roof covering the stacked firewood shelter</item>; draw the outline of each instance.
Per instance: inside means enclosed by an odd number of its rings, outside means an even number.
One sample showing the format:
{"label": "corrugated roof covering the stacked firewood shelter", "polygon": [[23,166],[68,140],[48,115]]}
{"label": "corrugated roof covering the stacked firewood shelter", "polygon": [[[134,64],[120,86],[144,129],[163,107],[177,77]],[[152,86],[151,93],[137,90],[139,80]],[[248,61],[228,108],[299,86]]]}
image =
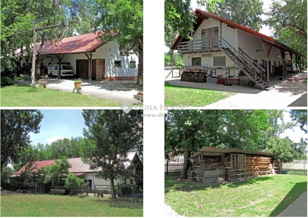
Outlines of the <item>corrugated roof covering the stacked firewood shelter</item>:
{"label": "corrugated roof covering the stacked firewood shelter", "polygon": [[204,146],[199,151],[190,156],[191,158],[198,157],[199,155],[204,156],[220,156],[226,153],[237,153],[237,154],[246,154],[246,155],[260,155],[260,156],[275,156],[274,153],[260,152],[260,151],[247,151],[241,149],[233,149],[233,148],[221,148],[221,147],[209,147]]}

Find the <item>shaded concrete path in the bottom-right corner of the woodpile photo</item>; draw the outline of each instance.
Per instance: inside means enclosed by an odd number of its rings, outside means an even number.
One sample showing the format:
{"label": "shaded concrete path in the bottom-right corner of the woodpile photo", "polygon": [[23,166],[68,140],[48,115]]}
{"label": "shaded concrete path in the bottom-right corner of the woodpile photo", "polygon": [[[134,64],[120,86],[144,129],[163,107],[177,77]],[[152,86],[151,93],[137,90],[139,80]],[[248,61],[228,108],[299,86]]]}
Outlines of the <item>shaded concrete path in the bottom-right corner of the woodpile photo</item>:
{"label": "shaded concrete path in the bottom-right corner of the woodpile photo", "polygon": [[302,193],[292,204],[278,216],[307,217],[307,192]]}

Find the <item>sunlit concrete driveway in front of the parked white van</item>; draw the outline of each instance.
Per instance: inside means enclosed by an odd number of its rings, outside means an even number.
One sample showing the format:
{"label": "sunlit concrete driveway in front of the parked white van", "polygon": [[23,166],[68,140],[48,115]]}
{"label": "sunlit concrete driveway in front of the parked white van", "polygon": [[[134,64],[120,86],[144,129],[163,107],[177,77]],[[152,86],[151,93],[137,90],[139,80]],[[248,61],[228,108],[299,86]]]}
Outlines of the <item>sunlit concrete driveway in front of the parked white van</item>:
{"label": "sunlit concrete driveway in front of the parked white van", "polygon": [[[65,78],[47,78],[47,88],[73,92],[74,79]],[[16,81],[16,83],[30,85],[31,81]],[[136,90],[137,86],[134,84],[136,81],[97,81],[83,79],[81,88],[83,95],[89,95],[93,97],[108,99],[117,102],[128,102],[130,104],[137,104],[138,100],[134,99],[134,95],[137,95],[138,91],[142,91],[143,87],[140,86],[139,90]]]}

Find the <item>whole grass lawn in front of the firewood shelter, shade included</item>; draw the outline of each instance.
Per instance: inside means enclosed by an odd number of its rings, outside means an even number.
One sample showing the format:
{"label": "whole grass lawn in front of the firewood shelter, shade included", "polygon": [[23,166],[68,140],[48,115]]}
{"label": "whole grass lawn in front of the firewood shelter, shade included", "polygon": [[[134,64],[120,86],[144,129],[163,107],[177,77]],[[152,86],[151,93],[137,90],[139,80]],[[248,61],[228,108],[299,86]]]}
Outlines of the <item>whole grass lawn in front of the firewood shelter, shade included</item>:
{"label": "whole grass lawn in front of the firewood shelter, shade included", "polygon": [[276,216],[305,191],[307,176],[298,175],[211,186],[165,176],[165,203],[184,216]]}

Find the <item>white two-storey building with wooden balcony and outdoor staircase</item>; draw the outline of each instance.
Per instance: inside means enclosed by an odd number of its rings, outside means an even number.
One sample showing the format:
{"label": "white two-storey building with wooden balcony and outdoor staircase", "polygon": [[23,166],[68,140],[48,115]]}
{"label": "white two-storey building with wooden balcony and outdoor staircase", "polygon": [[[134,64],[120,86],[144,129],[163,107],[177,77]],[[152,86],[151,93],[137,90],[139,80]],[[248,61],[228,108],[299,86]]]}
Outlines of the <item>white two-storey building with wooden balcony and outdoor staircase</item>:
{"label": "white two-storey building with wooden balcony and outdoor staircase", "polygon": [[170,47],[185,56],[183,81],[192,78],[186,78],[188,73],[204,73],[207,83],[247,81],[269,90],[274,76],[286,79],[286,63],[292,65],[292,57],[297,64],[305,57],[282,42],[245,26],[199,9],[194,14],[192,40],[179,35]]}

